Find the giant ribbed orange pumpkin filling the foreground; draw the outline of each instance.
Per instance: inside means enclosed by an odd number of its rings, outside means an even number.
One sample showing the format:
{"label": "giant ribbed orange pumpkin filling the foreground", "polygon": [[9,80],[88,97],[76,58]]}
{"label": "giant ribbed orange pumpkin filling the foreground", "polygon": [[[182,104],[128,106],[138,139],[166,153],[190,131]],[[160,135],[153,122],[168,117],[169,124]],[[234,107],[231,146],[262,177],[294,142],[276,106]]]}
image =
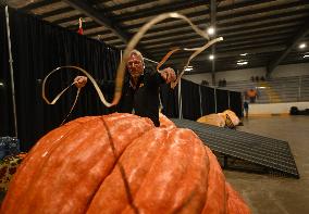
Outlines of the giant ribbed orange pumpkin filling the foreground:
{"label": "giant ribbed orange pumpkin filling the foreground", "polygon": [[131,114],[88,116],[42,137],[1,213],[249,213],[189,129]]}

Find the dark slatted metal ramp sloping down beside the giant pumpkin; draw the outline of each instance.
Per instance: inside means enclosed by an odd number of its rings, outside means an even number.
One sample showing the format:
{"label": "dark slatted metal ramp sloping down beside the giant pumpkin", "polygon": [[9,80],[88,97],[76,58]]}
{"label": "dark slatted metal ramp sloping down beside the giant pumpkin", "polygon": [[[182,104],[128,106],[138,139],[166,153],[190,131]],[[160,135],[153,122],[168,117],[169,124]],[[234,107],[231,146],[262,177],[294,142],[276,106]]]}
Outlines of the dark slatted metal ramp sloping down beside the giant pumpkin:
{"label": "dark slatted metal ramp sloping down beside the giant pumpkin", "polygon": [[172,121],[177,127],[195,131],[213,151],[223,168],[299,178],[286,141],[188,119]]}

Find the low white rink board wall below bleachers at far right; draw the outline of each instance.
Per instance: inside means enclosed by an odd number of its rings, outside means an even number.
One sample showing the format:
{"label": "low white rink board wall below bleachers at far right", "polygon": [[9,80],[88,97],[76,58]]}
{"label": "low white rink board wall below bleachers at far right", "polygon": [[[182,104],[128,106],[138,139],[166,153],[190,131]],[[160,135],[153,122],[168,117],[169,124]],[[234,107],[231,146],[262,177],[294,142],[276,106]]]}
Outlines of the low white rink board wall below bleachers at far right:
{"label": "low white rink board wall below bleachers at far right", "polygon": [[287,102],[287,103],[268,103],[268,104],[249,104],[250,114],[288,114],[292,106],[298,110],[309,109],[309,102]]}

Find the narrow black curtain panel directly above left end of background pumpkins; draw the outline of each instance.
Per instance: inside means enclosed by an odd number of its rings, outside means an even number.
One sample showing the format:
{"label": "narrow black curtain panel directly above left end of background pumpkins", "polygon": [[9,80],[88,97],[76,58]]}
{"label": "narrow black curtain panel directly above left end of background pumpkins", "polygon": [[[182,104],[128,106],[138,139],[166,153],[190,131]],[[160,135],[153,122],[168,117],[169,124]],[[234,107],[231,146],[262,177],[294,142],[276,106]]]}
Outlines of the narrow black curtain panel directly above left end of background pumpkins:
{"label": "narrow black curtain panel directly above left end of background pumpkins", "polygon": [[202,115],[215,113],[214,89],[200,86]]}

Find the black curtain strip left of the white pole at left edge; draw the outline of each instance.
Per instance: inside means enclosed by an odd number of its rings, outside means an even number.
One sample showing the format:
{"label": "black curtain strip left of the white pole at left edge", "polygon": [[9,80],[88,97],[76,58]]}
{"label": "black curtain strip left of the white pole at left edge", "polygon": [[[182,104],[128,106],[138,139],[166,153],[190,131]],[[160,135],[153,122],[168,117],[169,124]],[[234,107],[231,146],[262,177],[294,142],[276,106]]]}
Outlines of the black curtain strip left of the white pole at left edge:
{"label": "black curtain strip left of the white pole at left edge", "polygon": [[5,12],[0,8],[0,136],[14,136]]}

